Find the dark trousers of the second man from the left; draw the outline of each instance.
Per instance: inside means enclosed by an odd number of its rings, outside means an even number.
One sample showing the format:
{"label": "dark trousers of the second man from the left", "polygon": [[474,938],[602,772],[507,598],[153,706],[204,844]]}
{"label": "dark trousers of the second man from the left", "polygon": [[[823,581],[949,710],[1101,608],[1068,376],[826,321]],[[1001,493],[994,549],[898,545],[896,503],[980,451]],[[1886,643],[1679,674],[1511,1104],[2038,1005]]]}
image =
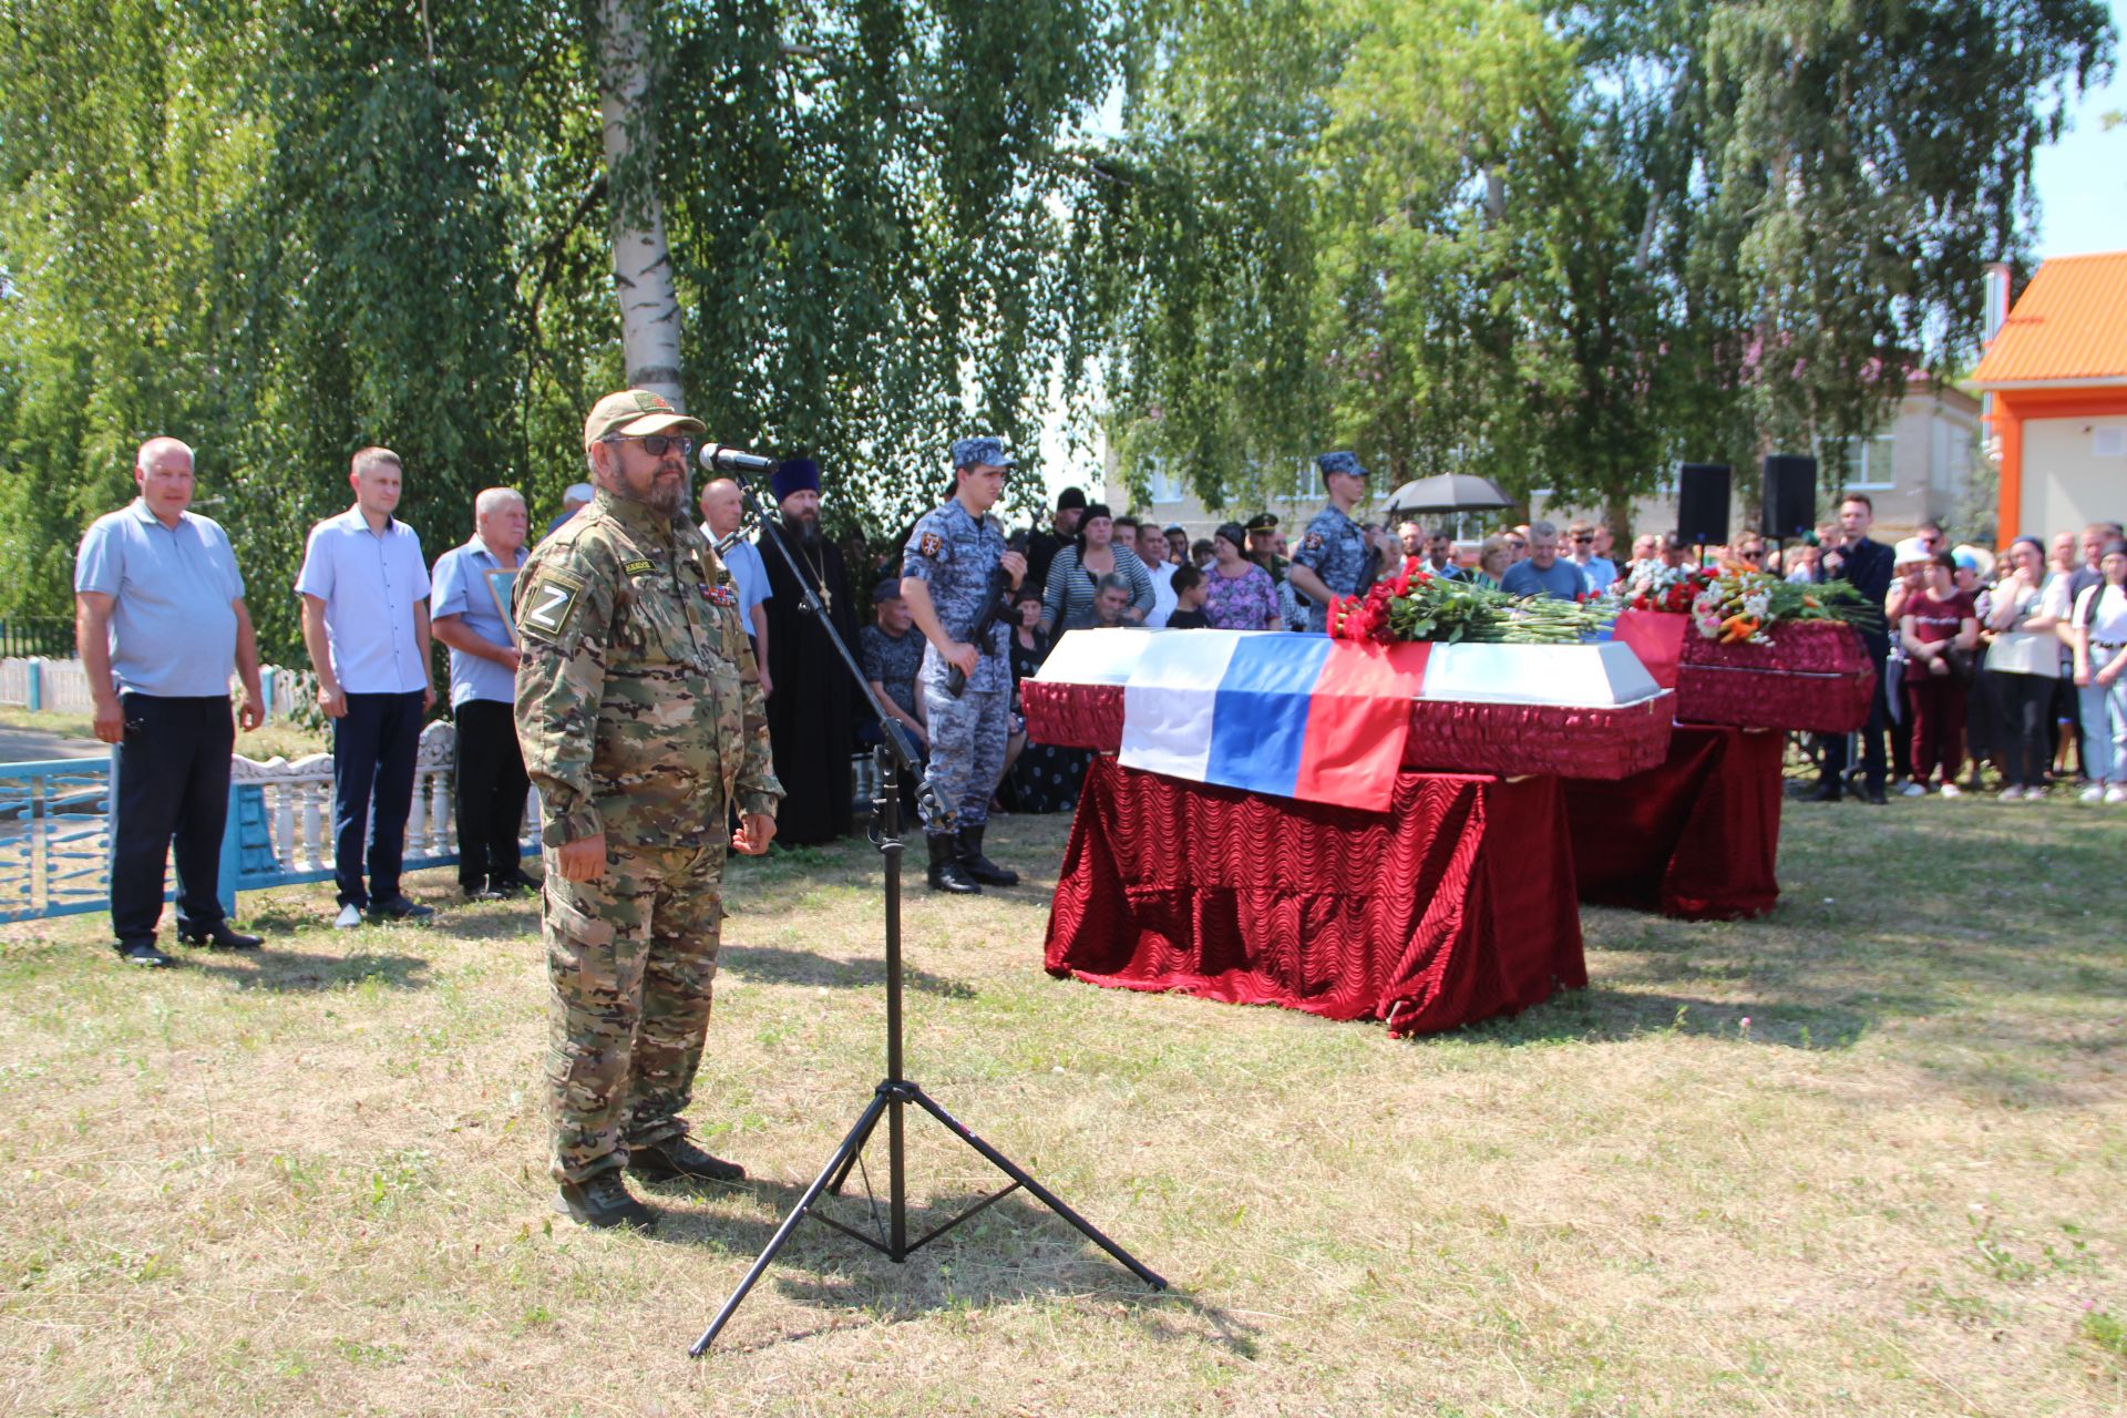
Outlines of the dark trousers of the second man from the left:
{"label": "dark trousers of the second man from the left", "polygon": [[[413,755],[421,746],[421,691],[347,695],[332,721],[332,874],[340,906],[389,901],[406,857]],[[368,823],[368,891],[362,887],[362,825]]]}

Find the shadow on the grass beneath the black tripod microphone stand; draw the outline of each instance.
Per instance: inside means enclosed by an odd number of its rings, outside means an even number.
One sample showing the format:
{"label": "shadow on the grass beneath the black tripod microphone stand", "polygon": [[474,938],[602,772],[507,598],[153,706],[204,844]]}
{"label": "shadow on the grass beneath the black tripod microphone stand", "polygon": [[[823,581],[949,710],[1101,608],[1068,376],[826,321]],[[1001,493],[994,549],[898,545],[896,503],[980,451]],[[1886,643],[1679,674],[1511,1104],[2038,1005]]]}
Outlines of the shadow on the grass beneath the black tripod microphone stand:
{"label": "shadow on the grass beneath the black tripod microphone stand", "polygon": [[[885,1188],[885,1157],[878,1159],[874,1184]],[[1000,1184],[1006,1178],[998,1178]],[[727,1188],[710,1188],[727,1191]],[[776,1227],[789,1216],[804,1195],[795,1182],[744,1182],[742,1191],[774,1216],[759,1212],[732,1216],[727,1212],[666,1212],[657,1237],[691,1246],[708,1246],[732,1252],[749,1267],[753,1259],[774,1237]],[[687,1195],[685,1188],[644,1188],[649,1197]],[[949,1225],[968,1212],[989,1193],[955,1191],[940,1197],[910,1201],[906,1235],[915,1244],[919,1237]],[[864,1186],[853,1178],[842,1197],[821,1197],[813,1212],[832,1216],[851,1231],[887,1235],[887,1201],[866,1197]],[[1121,1244],[1121,1242],[1119,1242]],[[1125,1246],[1127,1250],[1127,1246]],[[1157,1261],[1138,1256],[1157,1271]],[[732,1288],[744,1271],[732,1271]],[[1038,1203],[1025,1193],[1012,1193],[987,1205],[978,1214],[955,1225],[951,1233],[938,1235],[906,1263],[895,1265],[881,1250],[834,1231],[813,1218],[800,1222],[774,1265],[761,1276],[764,1286],[774,1286],[785,1299],[827,1312],[857,1314],[868,1324],[904,1324],[929,1314],[953,1310],[987,1310],[1012,1305],[1036,1297],[1074,1297],[1115,1303],[1138,1312],[1149,1333],[1161,1339],[1206,1339],[1219,1344],[1242,1358],[1257,1356],[1255,1329],[1219,1305],[1191,1293],[1153,1290],[1129,1269],[1083,1237],[1070,1222]],[[755,1290],[757,1295],[757,1290]],[[749,1297],[753,1303],[753,1297]],[[721,1299],[719,1299],[721,1305]],[[1202,1327],[1180,1322],[1195,1316]],[[685,1316],[689,1322],[708,1327],[715,1310],[702,1316]],[[730,1327],[717,1337],[719,1350],[764,1350],[819,1333],[847,1329],[844,1322],[825,1322],[774,1335],[749,1335],[747,1303],[732,1316]]]}

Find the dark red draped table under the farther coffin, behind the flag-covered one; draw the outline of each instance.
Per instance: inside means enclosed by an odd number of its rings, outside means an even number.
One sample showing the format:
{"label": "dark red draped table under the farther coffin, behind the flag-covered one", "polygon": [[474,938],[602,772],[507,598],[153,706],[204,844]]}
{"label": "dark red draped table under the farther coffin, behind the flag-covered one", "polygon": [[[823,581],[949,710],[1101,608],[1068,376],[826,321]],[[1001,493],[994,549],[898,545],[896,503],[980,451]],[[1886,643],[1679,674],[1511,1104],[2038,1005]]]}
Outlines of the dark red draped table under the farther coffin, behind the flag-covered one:
{"label": "dark red draped table under the farther coffin, behind the flag-covered one", "polygon": [[1785,755],[1776,729],[1678,723],[1661,767],[1565,780],[1580,899],[1687,921],[1770,912]]}

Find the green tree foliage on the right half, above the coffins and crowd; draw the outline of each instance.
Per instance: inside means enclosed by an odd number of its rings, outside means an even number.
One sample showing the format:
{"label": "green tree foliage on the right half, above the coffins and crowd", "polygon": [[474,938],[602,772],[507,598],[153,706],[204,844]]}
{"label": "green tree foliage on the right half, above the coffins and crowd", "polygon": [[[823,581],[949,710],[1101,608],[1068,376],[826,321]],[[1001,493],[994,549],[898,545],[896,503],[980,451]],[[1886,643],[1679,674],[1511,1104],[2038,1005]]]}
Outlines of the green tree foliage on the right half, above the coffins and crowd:
{"label": "green tree foliage on the right half, above the coffins and crowd", "polygon": [[[1206,0],[1146,26],[1108,204],[1138,266],[1104,306],[1129,472],[1166,459],[1217,506],[1351,444],[1619,523],[1676,457],[1816,446],[1829,476],[1916,357],[1965,355],[1980,268],[2025,255],[2031,153],[2112,49],[2093,0]],[[1146,230],[1217,236],[1161,261]]]}

